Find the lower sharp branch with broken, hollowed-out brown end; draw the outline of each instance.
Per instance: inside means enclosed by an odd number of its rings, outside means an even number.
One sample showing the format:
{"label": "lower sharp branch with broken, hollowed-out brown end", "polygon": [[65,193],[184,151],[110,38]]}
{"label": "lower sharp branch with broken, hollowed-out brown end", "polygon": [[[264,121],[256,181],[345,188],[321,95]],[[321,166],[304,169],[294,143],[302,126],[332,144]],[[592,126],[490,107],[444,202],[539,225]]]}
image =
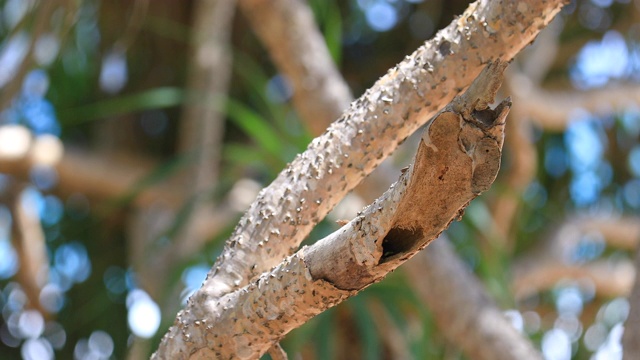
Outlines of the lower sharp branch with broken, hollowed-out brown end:
{"label": "lower sharp branch with broken, hollowed-out brown end", "polygon": [[506,63],[489,63],[424,130],[415,162],[340,230],[221,298],[198,290],[155,359],[257,359],[273,343],[428,245],[497,175],[510,100],[488,107]]}

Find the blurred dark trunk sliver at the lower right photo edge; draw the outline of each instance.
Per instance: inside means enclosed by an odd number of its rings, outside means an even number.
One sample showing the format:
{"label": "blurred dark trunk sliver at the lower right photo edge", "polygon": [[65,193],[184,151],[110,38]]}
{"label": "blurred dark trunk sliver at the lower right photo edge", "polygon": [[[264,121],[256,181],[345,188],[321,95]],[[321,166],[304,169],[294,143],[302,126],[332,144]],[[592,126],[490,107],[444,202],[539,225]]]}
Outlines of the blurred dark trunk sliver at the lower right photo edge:
{"label": "blurred dark trunk sliver at the lower right photo edge", "polygon": [[633,290],[629,296],[629,317],[624,324],[622,336],[623,360],[634,360],[640,356],[640,247],[636,251],[636,276]]}

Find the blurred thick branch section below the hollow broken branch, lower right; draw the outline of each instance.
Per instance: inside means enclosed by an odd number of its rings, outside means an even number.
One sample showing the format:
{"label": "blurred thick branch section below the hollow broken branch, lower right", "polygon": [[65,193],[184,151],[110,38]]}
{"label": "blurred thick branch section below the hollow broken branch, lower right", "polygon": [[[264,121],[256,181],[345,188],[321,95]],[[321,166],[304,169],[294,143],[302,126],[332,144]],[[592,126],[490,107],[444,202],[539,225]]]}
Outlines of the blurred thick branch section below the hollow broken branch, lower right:
{"label": "blurred thick branch section below the hollow broken branch, lower right", "polygon": [[457,339],[469,359],[542,359],[529,341],[522,341],[447,239],[438,239],[410,262],[416,261],[429,267],[406,267],[416,290],[427,299],[438,328]]}

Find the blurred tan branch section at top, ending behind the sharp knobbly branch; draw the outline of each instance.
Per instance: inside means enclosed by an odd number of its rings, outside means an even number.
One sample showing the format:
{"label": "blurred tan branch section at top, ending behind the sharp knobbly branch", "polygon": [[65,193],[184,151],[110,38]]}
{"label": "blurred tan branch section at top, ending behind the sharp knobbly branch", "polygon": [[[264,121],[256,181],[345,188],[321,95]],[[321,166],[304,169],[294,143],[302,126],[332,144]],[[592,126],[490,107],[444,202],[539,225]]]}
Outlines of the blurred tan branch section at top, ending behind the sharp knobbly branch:
{"label": "blurred tan branch section at top, ending behind the sharp knobbly branch", "polygon": [[311,9],[301,0],[240,0],[239,4],[291,82],[300,117],[307,119],[313,134],[321,134],[349,107],[353,95],[331,59]]}

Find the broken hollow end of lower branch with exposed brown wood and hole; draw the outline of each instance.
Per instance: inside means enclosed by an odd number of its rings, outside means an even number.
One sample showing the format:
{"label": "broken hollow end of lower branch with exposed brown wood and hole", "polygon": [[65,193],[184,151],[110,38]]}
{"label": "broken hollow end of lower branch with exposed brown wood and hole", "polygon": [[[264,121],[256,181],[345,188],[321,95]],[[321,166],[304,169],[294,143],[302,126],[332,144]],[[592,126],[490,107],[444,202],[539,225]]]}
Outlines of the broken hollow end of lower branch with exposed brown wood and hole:
{"label": "broken hollow end of lower branch with exposed brown wood and hole", "polygon": [[304,251],[314,278],[361,290],[426,247],[489,188],[500,168],[511,102],[505,99],[495,110],[488,104],[506,65],[489,63],[465,94],[427,124],[415,161],[400,179],[362,214]]}

